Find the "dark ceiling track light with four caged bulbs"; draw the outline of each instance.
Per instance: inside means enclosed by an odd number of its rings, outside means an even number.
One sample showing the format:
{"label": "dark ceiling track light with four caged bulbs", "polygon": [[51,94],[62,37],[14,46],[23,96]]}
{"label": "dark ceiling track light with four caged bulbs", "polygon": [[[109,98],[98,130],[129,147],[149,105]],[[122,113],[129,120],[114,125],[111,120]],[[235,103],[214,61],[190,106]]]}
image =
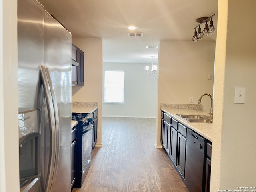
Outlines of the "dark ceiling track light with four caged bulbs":
{"label": "dark ceiling track light with four caged bulbs", "polygon": [[[214,16],[215,14],[213,14],[212,16],[210,17],[200,17],[200,18],[197,18],[196,19],[196,22],[198,22],[199,24],[194,28],[195,31],[194,31],[194,36],[192,38],[192,40],[194,42],[198,42],[198,40],[201,40],[204,36],[208,36],[209,34],[212,34],[215,30],[214,26],[213,26],[213,20],[212,20],[212,17]],[[210,20],[211,19],[211,20]],[[208,23],[210,21],[210,26],[208,26]],[[202,23],[206,23],[205,24],[205,27],[204,27],[204,30],[201,32],[201,28],[200,28],[200,25]],[[199,27],[198,27],[199,26]],[[196,28],[198,27],[198,32],[196,31]]]}

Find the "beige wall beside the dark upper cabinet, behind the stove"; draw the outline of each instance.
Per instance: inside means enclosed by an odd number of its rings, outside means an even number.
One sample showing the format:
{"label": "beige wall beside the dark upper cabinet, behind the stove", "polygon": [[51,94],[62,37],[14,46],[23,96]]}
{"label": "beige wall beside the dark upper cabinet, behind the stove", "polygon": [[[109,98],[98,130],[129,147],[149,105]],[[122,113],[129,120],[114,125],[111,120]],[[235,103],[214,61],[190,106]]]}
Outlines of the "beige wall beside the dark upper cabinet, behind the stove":
{"label": "beige wall beside the dark upper cabinet, behind the stove", "polygon": [[84,52],[84,86],[72,87],[72,101],[98,102],[98,145],[102,143],[102,38],[72,38]]}

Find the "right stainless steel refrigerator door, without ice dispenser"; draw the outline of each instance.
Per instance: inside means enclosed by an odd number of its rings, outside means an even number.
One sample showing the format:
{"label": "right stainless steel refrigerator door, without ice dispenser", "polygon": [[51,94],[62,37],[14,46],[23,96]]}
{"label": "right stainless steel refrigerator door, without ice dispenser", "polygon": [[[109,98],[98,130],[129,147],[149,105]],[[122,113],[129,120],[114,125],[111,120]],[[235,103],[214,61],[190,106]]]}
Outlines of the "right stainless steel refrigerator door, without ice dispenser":
{"label": "right stainless steel refrigerator door, without ice dispenser", "polygon": [[[71,191],[71,34],[44,13],[44,66],[58,108],[56,158],[51,191]],[[57,118],[57,117],[56,117]]]}

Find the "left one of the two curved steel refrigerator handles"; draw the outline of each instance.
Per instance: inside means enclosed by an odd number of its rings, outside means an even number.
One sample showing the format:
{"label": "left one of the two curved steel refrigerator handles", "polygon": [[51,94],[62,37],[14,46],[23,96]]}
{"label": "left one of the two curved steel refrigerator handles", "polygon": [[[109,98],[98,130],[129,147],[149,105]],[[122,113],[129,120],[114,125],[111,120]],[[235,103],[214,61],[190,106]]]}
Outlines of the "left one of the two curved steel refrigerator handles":
{"label": "left one of the two curved steel refrigerator handles", "polygon": [[50,85],[48,82],[48,78],[46,75],[46,71],[44,69],[43,65],[40,65],[40,76],[42,80],[42,84],[44,87],[44,93],[46,98],[46,105],[49,115],[49,125],[50,125],[50,146],[51,146],[51,152],[50,152],[50,161],[49,161],[49,172],[47,173],[46,178],[46,187],[45,191],[50,192],[51,186],[52,186],[52,178],[54,174],[54,164],[55,164],[55,152],[56,152],[56,128],[55,128],[55,116],[54,116],[54,106],[52,101],[52,94],[50,90]]}

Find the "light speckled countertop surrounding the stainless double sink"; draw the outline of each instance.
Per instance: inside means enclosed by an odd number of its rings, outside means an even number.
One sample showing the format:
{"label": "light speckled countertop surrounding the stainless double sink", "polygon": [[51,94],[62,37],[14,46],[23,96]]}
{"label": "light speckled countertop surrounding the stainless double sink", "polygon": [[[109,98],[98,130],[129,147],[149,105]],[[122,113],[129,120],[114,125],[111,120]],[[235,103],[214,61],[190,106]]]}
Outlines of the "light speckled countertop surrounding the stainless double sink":
{"label": "light speckled countertop surrounding the stainless double sink", "polygon": [[209,116],[208,111],[195,110],[195,109],[177,109],[177,108],[161,108],[162,111],[169,114],[174,119],[178,120],[180,123],[184,124],[191,130],[194,130],[204,138],[212,141],[212,123],[194,123],[188,122],[175,114],[193,114],[193,115],[207,115]]}

